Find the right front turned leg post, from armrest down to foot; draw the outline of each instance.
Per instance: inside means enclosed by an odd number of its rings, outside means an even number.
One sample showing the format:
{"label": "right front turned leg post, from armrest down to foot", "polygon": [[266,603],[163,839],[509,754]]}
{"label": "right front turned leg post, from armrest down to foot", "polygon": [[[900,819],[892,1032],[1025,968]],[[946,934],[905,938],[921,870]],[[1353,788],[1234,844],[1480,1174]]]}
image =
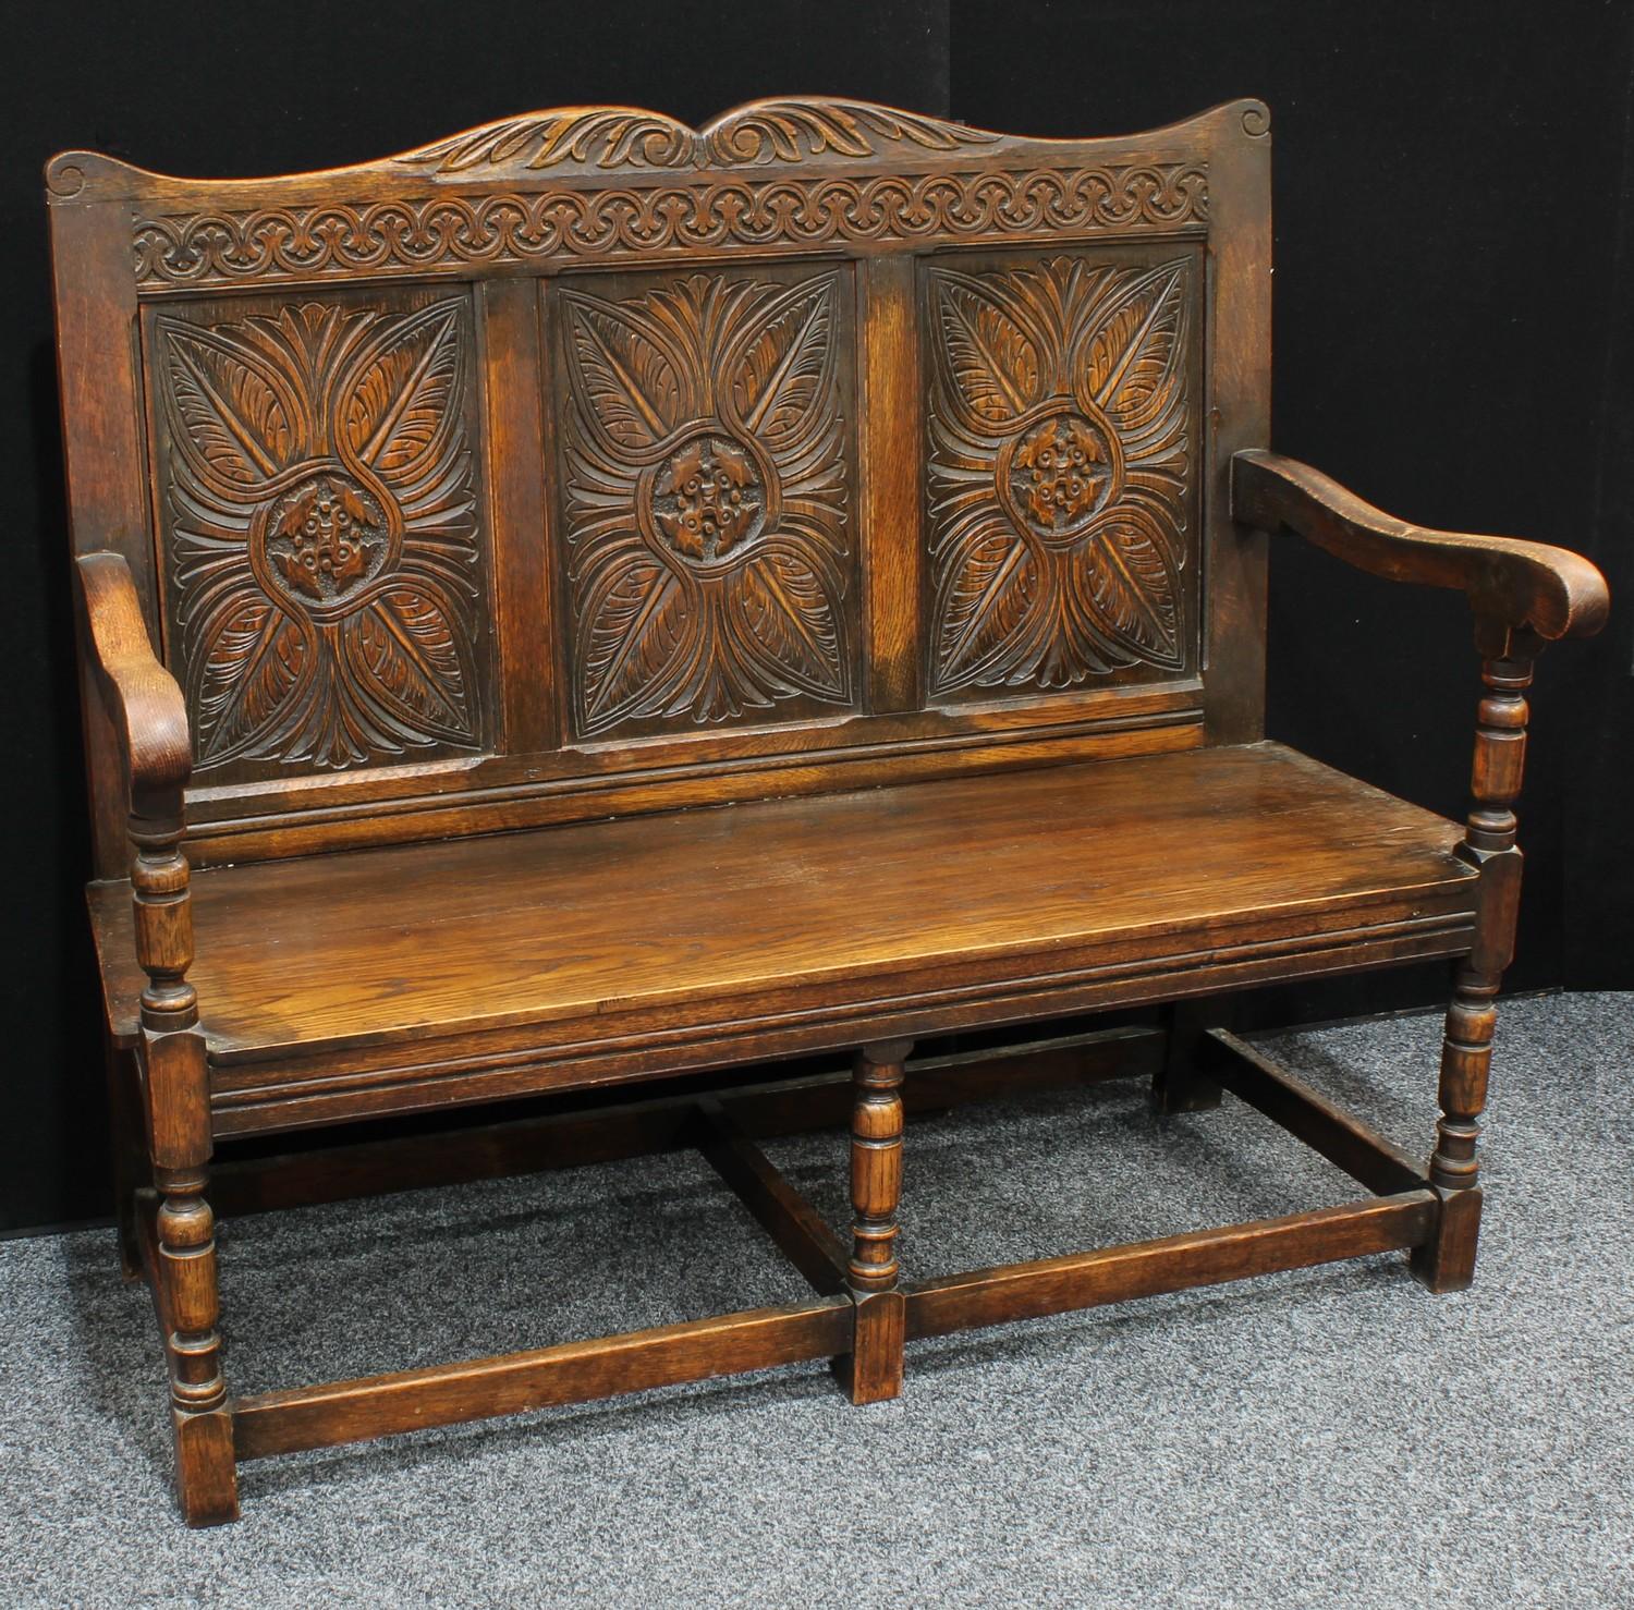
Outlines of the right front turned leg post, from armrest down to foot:
{"label": "right front turned leg post, from armrest down to foot", "polygon": [[1480,868],[1476,945],[1454,976],[1441,1044],[1441,1118],[1430,1157],[1441,1218],[1435,1237],[1415,1247],[1412,1257],[1413,1272],[1431,1291],[1459,1291],[1476,1278],[1480,1115],[1487,1107],[1497,995],[1515,951],[1521,888],[1513,806],[1526,767],[1526,688],[1536,644],[1520,633],[1482,629],[1480,636],[1490,637],[1497,652],[1482,665],[1487,691],[1476,726],[1474,809],[1459,852]]}

